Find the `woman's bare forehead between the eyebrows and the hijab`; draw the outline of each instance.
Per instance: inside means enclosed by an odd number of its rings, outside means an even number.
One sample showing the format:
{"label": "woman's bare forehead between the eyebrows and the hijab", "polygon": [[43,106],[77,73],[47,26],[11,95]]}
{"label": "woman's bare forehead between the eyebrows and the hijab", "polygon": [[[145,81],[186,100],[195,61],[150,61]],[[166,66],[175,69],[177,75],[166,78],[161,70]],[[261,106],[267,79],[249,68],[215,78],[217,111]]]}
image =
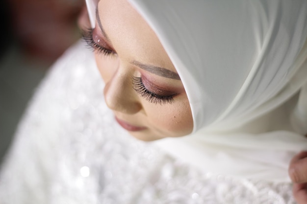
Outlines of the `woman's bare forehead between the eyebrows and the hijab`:
{"label": "woman's bare forehead between the eyebrows and the hijab", "polygon": [[102,26],[120,57],[176,72],[151,27],[127,0],[100,0],[98,12]]}

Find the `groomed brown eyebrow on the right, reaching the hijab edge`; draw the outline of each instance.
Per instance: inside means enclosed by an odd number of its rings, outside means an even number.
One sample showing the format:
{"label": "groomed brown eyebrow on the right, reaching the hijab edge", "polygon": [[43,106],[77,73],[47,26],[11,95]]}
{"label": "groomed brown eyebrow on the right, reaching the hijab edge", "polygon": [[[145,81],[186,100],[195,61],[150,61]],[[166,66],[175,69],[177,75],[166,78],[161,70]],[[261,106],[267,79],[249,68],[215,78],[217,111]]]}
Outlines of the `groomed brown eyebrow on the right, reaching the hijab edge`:
{"label": "groomed brown eyebrow on the right, reaching the hijab edge", "polygon": [[142,63],[137,62],[137,61],[132,61],[131,64],[133,64],[133,65],[135,65],[135,66],[137,66],[141,69],[144,69],[146,71],[149,71],[153,74],[156,74],[158,76],[163,76],[163,77],[170,78],[170,79],[180,80],[178,73],[171,71],[171,70],[168,70],[166,68],[160,68],[160,67],[156,67],[156,66],[153,66],[153,65],[145,65],[145,64],[142,64]]}

